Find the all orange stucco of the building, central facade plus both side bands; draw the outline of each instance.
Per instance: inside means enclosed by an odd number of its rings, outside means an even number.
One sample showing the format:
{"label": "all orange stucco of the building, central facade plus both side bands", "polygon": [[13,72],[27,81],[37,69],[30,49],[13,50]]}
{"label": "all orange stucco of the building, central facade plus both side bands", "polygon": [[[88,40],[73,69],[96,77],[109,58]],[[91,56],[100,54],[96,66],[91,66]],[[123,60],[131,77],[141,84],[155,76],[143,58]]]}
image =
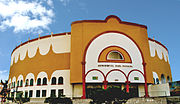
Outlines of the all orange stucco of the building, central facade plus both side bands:
{"label": "all orange stucco of the building, central facade plus both side bands", "polygon": [[150,56],[146,26],[123,22],[114,16],[106,18],[106,20],[73,22],[71,25],[71,53],[56,54],[52,51],[51,46],[46,55],[41,55],[39,50],[33,58],[26,55],[24,60],[18,59],[17,63],[10,67],[9,79],[12,80],[15,76],[17,80],[18,76],[22,74],[25,80],[28,73],[33,73],[36,78],[41,71],[46,72],[50,79],[55,70],[70,69],[71,83],[82,83],[81,63],[84,60],[85,50],[91,40],[107,31],[122,32],[137,43],[146,63],[148,83],[153,83],[152,71],[157,72],[159,78],[161,74],[164,74],[172,79],[169,63],[159,59],[157,55]]}

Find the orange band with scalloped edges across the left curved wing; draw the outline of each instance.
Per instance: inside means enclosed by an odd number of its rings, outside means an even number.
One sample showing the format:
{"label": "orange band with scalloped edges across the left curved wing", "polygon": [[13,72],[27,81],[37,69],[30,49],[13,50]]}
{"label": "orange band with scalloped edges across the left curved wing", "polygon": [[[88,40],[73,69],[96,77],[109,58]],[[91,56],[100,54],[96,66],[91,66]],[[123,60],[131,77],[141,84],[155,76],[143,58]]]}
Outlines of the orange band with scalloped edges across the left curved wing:
{"label": "orange band with scalloped edges across the left curved wing", "polygon": [[41,55],[39,49],[33,58],[26,57],[23,61],[18,59],[17,63],[14,63],[10,67],[9,79],[15,76],[16,81],[20,74],[23,75],[24,81],[28,73],[33,73],[35,79],[39,72],[44,71],[48,74],[50,80],[52,73],[55,70],[68,70],[70,69],[70,53],[56,54],[52,51],[52,46],[47,55]]}

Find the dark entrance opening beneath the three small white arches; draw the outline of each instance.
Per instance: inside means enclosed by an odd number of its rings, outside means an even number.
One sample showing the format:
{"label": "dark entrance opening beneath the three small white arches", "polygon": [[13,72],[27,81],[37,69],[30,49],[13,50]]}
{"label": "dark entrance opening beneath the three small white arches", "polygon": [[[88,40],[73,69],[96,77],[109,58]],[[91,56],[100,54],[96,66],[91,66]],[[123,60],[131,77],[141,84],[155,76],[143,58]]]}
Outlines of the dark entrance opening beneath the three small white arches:
{"label": "dark entrance opening beneath the three small white arches", "polygon": [[129,99],[138,97],[138,85],[130,84],[129,93],[126,92],[125,83],[108,83],[107,89],[103,88],[103,83],[86,84],[86,97],[93,100],[114,100]]}

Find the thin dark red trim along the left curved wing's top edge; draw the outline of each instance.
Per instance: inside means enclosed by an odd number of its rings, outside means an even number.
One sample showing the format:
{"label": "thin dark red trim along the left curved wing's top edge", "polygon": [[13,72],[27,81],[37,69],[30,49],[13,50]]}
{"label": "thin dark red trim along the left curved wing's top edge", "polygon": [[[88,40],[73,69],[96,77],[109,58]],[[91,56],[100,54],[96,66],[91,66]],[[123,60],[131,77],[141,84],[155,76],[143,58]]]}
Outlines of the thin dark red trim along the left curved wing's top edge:
{"label": "thin dark red trim along the left curved wing's top edge", "polygon": [[[52,36],[54,37],[54,36],[60,36],[60,35],[66,35],[66,34],[71,34],[71,32],[53,34]],[[14,52],[17,48],[19,48],[20,46],[23,46],[23,45],[25,45],[25,44],[27,44],[27,43],[29,43],[29,42],[36,41],[36,40],[38,40],[38,39],[44,39],[44,38],[48,38],[48,37],[51,37],[51,35],[46,35],[46,36],[42,36],[42,37],[39,37],[39,38],[35,38],[35,39],[32,39],[32,40],[26,41],[26,42],[18,45],[16,48],[14,48],[14,50],[13,50],[12,53],[11,53],[11,55],[12,55],[13,52]]]}

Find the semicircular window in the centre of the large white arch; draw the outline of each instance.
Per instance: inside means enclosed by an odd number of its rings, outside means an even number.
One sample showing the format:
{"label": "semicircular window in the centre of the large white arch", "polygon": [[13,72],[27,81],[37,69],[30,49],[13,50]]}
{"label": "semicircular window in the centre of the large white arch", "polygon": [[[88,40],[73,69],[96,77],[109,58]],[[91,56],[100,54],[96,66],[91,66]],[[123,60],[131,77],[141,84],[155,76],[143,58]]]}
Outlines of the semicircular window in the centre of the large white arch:
{"label": "semicircular window in the centre of the large white arch", "polygon": [[107,55],[108,60],[124,60],[122,54],[118,51],[111,51]]}

